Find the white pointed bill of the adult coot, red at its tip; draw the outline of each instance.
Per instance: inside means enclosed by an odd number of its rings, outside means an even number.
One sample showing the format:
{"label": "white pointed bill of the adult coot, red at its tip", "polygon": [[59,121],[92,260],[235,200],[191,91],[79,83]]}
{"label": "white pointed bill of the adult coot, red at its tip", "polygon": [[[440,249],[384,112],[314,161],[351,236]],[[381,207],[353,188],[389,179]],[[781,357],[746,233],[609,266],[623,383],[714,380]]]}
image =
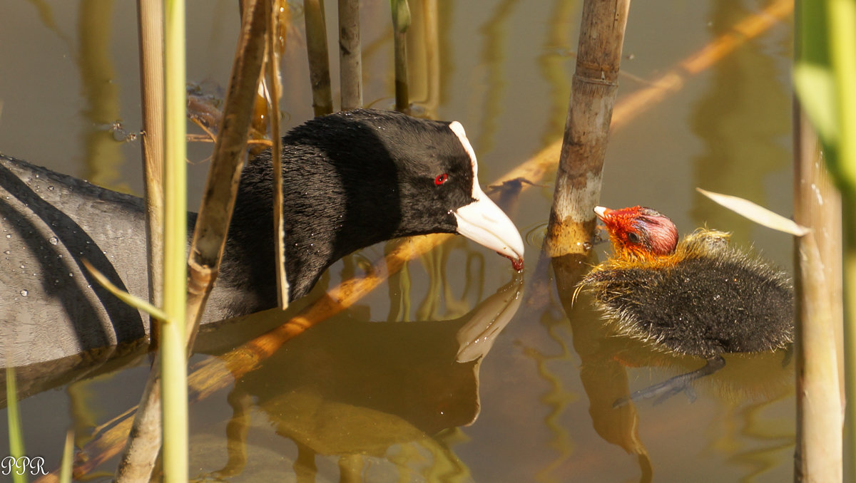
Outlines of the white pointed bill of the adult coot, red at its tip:
{"label": "white pointed bill of the adult coot, red at its tip", "polygon": [[515,270],[523,268],[523,239],[502,209],[478,189],[476,201],[455,209],[458,233],[511,260]]}

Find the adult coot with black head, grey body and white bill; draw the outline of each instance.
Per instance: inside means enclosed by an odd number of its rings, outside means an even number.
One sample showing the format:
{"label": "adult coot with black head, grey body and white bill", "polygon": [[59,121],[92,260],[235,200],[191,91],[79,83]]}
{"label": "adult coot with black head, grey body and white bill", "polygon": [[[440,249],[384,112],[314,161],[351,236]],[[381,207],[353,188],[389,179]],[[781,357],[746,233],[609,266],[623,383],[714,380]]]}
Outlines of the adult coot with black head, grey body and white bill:
{"label": "adult coot with black head, grey body and white bill", "polygon": [[[520,268],[523,242],[484,195],[458,122],[357,110],[283,138],[283,217],[292,299],[342,256],[387,239],[460,233]],[[247,163],[221,274],[203,323],[276,305],[270,152]],[[145,296],[140,198],[0,155],[0,365],[26,365],[134,341],[148,318],[105,292],[86,258]],[[188,214],[193,228],[195,214]]]}

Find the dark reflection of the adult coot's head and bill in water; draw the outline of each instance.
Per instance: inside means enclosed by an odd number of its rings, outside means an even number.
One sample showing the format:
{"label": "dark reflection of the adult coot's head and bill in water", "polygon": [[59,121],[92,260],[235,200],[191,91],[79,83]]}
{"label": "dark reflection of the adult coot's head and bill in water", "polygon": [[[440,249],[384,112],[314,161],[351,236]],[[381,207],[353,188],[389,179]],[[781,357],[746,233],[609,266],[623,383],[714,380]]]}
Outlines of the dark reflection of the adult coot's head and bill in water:
{"label": "dark reflection of the adult coot's head and bill in water", "polygon": [[[253,409],[294,442],[294,472],[312,475],[307,480],[317,475],[319,456],[339,458],[346,468],[360,465],[353,456],[371,456],[373,465],[391,464],[388,470],[404,478],[423,463],[424,456],[415,456],[427,451],[428,467],[464,471],[434,435],[478,417],[479,368],[520,307],[521,288],[516,276],[456,319],[377,323],[338,316],[289,341],[229,393],[229,462],[217,474],[246,468]],[[413,446],[407,450],[413,457],[401,457],[404,446]],[[193,458],[217,468],[205,461],[207,453]]]}

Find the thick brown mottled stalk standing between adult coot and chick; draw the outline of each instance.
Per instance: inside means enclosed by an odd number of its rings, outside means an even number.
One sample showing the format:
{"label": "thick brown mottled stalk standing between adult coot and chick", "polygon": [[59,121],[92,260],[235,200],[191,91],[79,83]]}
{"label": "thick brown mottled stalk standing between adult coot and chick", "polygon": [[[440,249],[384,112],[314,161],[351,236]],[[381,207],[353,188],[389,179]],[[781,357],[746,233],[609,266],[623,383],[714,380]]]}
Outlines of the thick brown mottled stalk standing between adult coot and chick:
{"label": "thick brown mottled stalk standing between adult coot and chick", "polygon": [[548,256],[585,254],[595,227],[603,158],[630,0],[586,0],[544,250]]}

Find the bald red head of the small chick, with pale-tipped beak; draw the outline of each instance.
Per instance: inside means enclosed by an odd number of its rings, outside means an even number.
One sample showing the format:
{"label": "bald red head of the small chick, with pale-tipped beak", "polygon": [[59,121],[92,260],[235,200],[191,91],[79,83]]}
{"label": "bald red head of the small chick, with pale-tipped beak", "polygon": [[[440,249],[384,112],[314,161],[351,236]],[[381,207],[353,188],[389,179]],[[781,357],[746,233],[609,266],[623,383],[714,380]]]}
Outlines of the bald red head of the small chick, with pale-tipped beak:
{"label": "bald red head of the small chick, with pale-tipped beak", "polygon": [[669,255],[678,244],[678,229],[669,217],[644,206],[594,209],[609,230],[616,254],[629,252],[645,256]]}

